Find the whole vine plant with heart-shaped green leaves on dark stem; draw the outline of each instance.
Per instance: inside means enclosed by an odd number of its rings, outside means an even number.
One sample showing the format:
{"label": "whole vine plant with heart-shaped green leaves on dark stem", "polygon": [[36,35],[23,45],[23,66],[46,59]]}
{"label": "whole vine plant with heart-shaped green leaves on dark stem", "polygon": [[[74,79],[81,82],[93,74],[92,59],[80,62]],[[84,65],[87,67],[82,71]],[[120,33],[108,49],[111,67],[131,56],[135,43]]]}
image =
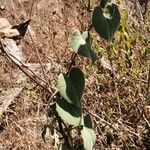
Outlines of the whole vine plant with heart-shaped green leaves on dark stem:
{"label": "whole vine plant with heart-shaped green leaves on dark stem", "polygon": [[[102,0],[92,13],[92,28],[100,37],[110,42],[118,28],[120,13],[116,4]],[[72,34],[72,61],[67,73],[58,77],[58,91],[49,103],[49,123],[44,126],[42,137],[45,140],[47,128],[54,135],[55,148],[60,150],[86,149],[92,150],[96,135],[92,129],[90,115],[83,114],[81,99],[85,87],[83,72],[74,67],[77,55],[95,62],[97,55],[91,48],[90,31],[76,30]],[[78,140],[75,140],[78,139]]]}

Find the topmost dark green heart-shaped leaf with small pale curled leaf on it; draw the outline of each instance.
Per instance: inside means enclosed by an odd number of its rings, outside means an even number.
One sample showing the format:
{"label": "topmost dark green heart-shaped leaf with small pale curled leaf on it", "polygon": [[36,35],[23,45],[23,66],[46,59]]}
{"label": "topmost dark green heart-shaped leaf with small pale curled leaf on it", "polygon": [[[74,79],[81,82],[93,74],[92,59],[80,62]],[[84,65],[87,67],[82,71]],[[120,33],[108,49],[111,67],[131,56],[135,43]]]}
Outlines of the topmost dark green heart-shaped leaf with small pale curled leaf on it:
{"label": "topmost dark green heart-shaped leaf with small pale curled leaf on it", "polygon": [[102,38],[111,40],[120,23],[120,12],[117,5],[107,3],[104,8],[96,6],[92,15],[92,24]]}

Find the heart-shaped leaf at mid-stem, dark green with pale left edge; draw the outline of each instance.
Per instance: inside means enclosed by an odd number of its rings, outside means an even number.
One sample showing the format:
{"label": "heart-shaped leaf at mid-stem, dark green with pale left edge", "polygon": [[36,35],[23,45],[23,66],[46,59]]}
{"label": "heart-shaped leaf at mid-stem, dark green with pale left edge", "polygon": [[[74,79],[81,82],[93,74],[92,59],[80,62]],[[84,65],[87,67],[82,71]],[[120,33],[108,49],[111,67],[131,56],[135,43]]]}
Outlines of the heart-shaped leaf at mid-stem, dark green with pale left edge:
{"label": "heart-shaped leaf at mid-stem, dark green with pale left edge", "polygon": [[82,71],[72,68],[69,76],[60,74],[58,78],[58,89],[60,95],[70,104],[80,107],[80,99],[84,90],[85,79]]}

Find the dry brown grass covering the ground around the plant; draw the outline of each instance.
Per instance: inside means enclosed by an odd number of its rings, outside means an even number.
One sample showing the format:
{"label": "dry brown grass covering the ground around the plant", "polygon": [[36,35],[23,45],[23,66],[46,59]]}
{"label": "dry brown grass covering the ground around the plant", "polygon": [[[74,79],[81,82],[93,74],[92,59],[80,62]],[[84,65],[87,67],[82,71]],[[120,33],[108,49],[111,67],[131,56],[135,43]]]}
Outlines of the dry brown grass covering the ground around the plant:
{"label": "dry brown grass covering the ground around the plant", "polygon": [[[52,63],[48,73],[50,85],[57,86],[57,75],[65,71],[70,59],[69,40],[74,29],[83,29],[88,22],[88,14],[77,0],[38,0],[32,8],[32,1],[2,1],[6,10],[0,10],[0,16],[12,24],[32,16],[30,32],[21,41],[23,52],[28,62],[38,63],[38,56],[43,63]],[[95,1],[93,1],[94,5]],[[32,8],[32,14],[30,14]],[[80,22],[83,20],[83,24]],[[148,22],[149,23],[149,22]],[[132,67],[126,66],[124,53],[112,53],[118,79],[113,79],[111,72],[98,63],[91,65],[88,60],[78,59],[77,64],[86,75],[86,89],[83,96],[83,108],[89,112],[94,122],[97,135],[96,150],[120,149],[143,150],[150,145],[150,114],[145,111],[147,93],[150,41],[145,25],[128,25],[132,56]],[[145,35],[141,35],[141,27]],[[93,47],[107,59],[107,43],[93,33]],[[115,48],[121,50],[122,43]],[[104,51],[99,49],[104,48]],[[121,55],[121,56],[120,56]],[[58,65],[59,64],[59,65]],[[17,72],[17,73],[16,73]],[[16,75],[17,74],[17,75]],[[0,94],[10,87],[20,86],[16,83],[18,69],[4,56],[0,56]],[[115,81],[114,81],[115,80]],[[117,91],[114,86],[117,85]],[[52,94],[52,93],[51,93]],[[41,138],[42,126],[47,122],[46,91],[35,86],[30,80],[1,118],[0,149],[4,150],[48,150],[53,149],[51,136],[44,143]],[[118,109],[118,101],[121,112]]]}

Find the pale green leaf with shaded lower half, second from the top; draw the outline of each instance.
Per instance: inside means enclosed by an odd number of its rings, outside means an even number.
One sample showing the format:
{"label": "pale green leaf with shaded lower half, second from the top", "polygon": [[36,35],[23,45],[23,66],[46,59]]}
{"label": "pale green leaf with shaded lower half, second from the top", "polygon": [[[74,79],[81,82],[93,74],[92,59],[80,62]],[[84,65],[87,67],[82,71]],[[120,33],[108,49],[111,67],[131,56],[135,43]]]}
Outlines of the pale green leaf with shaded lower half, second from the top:
{"label": "pale green leaf with shaded lower half, second from the top", "polygon": [[71,47],[74,52],[81,56],[90,58],[92,62],[97,59],[95,52],[91,48],[90,37],[88,31],[81,35],[79,30],[76,30],[71,38]]}

